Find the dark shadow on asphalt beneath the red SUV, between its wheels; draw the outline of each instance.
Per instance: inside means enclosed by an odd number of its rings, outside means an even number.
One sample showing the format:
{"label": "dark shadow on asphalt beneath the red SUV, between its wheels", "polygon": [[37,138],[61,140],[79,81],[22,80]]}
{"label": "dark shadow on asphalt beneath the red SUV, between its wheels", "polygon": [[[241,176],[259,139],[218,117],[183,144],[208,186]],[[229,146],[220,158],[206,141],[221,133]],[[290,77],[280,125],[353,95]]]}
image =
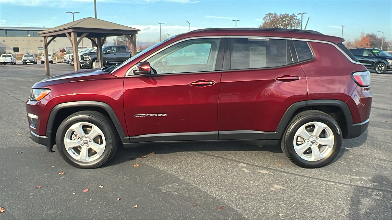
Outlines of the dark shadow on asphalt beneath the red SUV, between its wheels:
{"label": "dark shadow on asphalt beneath the red SUV, between its wheels", "polygon": [[117,149],[114,158],[102,167],[113,166],[131,160],[135,160],[149,153],[169,154],[183,151],[269,151],[272,153],[283,153],[280,146],[255,146],[245,142],[170,142],[145,144],[134,148]]}

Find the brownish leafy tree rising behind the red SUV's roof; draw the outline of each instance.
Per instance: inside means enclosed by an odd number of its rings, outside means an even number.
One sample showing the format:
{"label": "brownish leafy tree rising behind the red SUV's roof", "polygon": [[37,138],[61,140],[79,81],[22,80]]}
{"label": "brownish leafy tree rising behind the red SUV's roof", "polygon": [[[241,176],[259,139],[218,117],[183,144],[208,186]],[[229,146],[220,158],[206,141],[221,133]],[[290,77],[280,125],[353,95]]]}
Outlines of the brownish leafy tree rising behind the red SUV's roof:
{"label": "brownish leafy tree rising behind the red SUV's roof", "polygon": [[295,14],[268,13],[259,27],[298,29],[301,28],[301,20]]}

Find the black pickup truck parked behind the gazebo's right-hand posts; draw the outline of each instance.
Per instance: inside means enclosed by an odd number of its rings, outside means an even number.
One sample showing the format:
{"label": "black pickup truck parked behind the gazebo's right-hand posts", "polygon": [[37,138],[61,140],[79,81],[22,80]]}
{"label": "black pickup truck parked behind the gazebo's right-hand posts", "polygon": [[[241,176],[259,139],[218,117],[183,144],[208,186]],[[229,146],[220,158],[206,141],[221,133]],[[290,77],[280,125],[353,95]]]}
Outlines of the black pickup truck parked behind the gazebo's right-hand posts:
{"label": "black pickup truck parked behind the gazebo's right-hand posts", "polygon": [[[104,66],[120,64],[131,57],[129,48],[125,45],[105,46],[102,48],[102,60]],[[90,52],[80,56],[80,63],[83,69],[93,68],[93,63],[97,60],[97,53]]]}

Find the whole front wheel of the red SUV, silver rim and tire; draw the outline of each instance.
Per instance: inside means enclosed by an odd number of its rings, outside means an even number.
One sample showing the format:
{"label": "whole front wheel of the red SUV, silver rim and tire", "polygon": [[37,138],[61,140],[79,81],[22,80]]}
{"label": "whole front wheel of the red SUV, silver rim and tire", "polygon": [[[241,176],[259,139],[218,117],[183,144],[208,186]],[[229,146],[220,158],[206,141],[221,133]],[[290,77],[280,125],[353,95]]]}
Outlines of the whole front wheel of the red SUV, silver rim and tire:
{"label": "whole front wheel of the red SUV, silver rim and tire", "polygon": [[61,157],[77,168],[102,166],[113,157],[118,144],[113,122],[94,111],[70,115],[56,133],[56,145]]}

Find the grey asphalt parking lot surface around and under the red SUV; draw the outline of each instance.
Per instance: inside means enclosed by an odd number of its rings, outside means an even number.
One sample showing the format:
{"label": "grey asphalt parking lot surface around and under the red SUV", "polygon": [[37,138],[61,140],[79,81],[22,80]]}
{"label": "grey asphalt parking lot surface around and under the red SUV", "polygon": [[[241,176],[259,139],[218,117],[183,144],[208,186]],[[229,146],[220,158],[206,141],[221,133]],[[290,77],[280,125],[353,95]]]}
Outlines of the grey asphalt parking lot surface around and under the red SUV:
{"label": "grey asphalt parking lot surface around and under the red SUV", "polygon": [[392,219],[391,72],[372,73],[367,132],[319,169],[295,166],[279,146],[241,143],[146,145],[103,168],[73,168],[28,138],[24,103],[44,75],[44,65],[0,67],[1,220]]}

